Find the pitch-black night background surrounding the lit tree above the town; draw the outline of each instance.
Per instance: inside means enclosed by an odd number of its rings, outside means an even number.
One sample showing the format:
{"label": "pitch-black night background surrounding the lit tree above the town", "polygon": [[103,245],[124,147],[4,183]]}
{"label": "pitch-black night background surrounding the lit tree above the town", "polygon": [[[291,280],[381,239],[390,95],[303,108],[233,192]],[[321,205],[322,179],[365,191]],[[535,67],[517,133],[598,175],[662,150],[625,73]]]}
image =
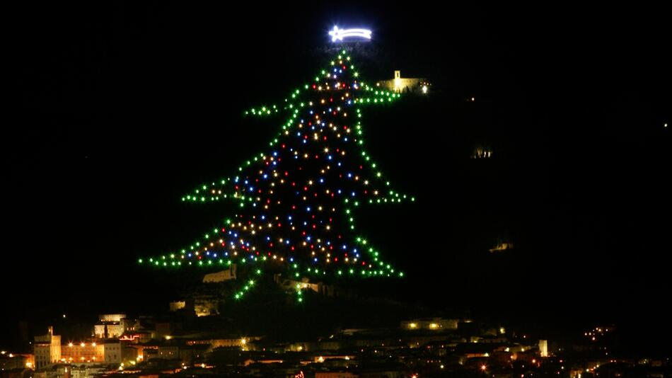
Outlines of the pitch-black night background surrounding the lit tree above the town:
{"label": "pitch-black night background surrounding the lit tree above the town", "polygon": [[[233,211],[180,197],[262,149],[282,118],[243,110],[321,69],[335,24],[373,30],[369,80],[433,83],[422,101],[364,110],[371,153],[417,197],[358,216],[407,271],[398,299],[557,327],[665,319],[662,8],[240,6],[6,9],[0,339],[22,319],[142,311],[161,273],[137,258]],[[477,144],[493,159],[469,159]],[[488,253],[502,238],[516,249]]]}

